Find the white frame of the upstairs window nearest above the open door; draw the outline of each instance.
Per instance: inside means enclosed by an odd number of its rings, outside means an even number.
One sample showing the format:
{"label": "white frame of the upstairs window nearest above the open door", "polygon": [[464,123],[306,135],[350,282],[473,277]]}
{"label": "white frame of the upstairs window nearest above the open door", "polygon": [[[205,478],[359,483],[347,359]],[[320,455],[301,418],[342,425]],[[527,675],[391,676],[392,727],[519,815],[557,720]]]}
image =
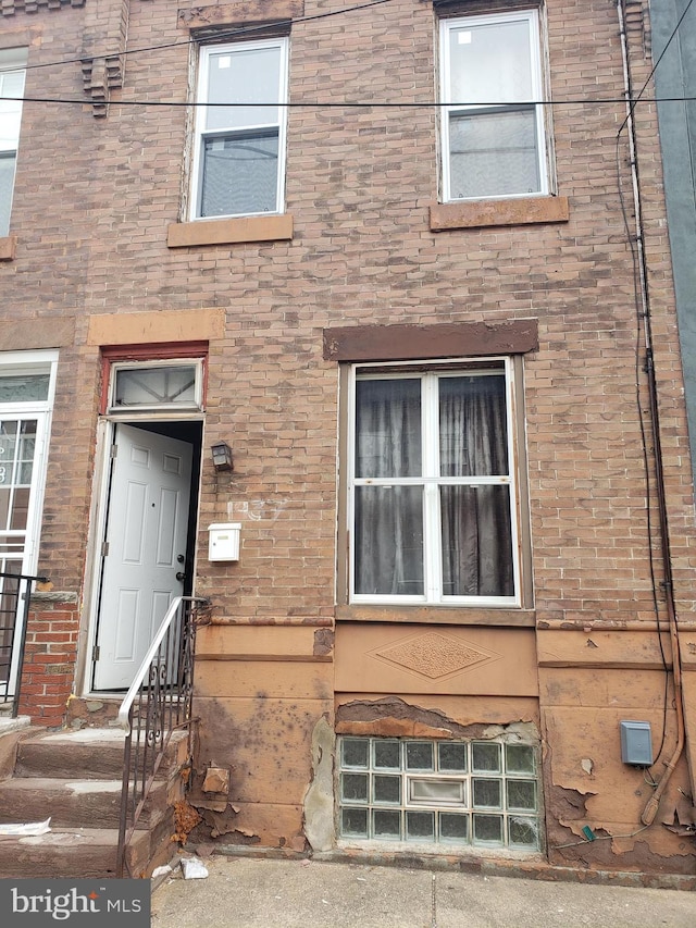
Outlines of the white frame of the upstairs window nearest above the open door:
{"label": "white frame of the upstairs window nearest above the open door", "polygon": [[[228,53],[231,55],[253,51],[264,48],[277,48],[281,51],[279,63],[279,82],[277,94],[277,121],[266,124],[253,126],[235,126],[227,129],[215,128],[212,131],[206,129],[206,120],[208,114],[208,81],[210,73],[210,58],[213,54]],[[194,157],[191,165],[191,194],[189,219],[194,220],[214,220],[232,218],[235,215],[279,215],[285,212],[285,162],[286,162],[286,137],[287,137],[287,102],[288,96],[288,62],[289,62],[289,39],[287,36],[268,39],[264,41],[252,42],[235,42],[234,45],[206,45],[201,46],[198,62],[198,88],[196,96],[196,120],[194,131]],[[269,101],[273,102],[273,101]],[[270,108],[269,108],[270,109]],[[250,129],[262,132],[264,129],[277,129],[278,134],[278,163],[276,177],[276,209],[259,210],[256,212],[246,213],[229,213],[229,216],[224,215],[201,215],[201,197],[203,182],[203,147],[207,138],[229,137],[243,135]]]}

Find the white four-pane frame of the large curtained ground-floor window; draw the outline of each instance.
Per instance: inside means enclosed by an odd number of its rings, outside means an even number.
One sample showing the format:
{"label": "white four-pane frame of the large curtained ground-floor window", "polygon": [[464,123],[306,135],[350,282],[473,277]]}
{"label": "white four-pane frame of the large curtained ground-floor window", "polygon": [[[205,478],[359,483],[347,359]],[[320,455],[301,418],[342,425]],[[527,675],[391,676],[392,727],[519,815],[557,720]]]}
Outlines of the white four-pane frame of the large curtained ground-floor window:
{"label": "white four-pane frame of the large curtained ground-floor window", "polygon": [[[492,364],[499,367],[493,368]],[[437,379],[462,374],[505,373],[507,455],[508,474],[495,477],[440,478],[438,443]],[[356,384],[360,375],[374,379],[423,378],[421,391],[421,443],[423,456],[423,475],[420,478],[368,478],[356,475]],[[348,426],[348,537],[349,537],[349,602],[355,604],[395,604],[430,606],[477,606],[508,607],[521,606],[522,584],[520,564],[520,499],[517,479],[518,455],[515,449],[515,401],[514,370],[512,358],[492,357],[472,359],[448,359],[443,361],[413,361],[390,363],[355,364],[349,378],[349,426]],[[363,485],[423,486],[423,536],[424,536],[424,591],[423,595],[365,594],[356,593],[356,487]],[[450,596],[443,593],[442,530],[439,510],[440,485],[507,485],[510,494],[510,536],[514,592],[512,596]]]}

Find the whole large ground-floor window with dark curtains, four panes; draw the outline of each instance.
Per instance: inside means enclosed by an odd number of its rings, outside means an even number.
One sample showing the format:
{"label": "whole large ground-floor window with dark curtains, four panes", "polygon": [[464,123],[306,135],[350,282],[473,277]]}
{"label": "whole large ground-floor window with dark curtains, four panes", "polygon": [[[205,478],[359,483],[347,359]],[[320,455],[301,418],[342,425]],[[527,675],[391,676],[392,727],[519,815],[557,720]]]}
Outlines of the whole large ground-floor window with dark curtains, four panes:
{"label": "whole large ground-floor window with dark curtains, four panes", "polygon": [[518,605],[510,360],[353,370],[352,602]]}

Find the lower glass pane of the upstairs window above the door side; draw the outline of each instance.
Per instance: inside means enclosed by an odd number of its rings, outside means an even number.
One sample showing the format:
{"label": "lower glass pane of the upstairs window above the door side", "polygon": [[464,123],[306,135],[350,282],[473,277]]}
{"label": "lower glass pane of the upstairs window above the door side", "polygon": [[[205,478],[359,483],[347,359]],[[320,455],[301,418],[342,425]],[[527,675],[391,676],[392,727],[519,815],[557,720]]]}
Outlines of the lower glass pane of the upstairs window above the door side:
{"label": "lower glass pane of the upstairs window above the door side", "polygon": [[278,134],[203,140],[201,216],[277,210]]}

